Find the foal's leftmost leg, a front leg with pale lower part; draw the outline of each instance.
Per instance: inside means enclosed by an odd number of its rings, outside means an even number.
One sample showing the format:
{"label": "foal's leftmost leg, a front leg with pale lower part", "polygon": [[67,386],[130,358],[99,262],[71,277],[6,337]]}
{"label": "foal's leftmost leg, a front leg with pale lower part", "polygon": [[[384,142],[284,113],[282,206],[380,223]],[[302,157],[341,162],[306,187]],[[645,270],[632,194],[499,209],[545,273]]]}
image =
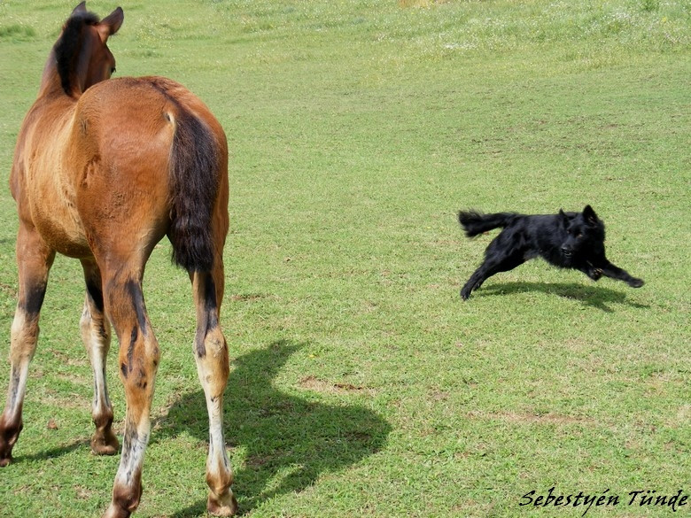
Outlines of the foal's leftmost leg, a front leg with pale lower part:
{"label": "foal's leftmost leg, a front leg with pale lower part", "polygon": [[12,321],[10,344],[10,387],[7,404],[0,417],[0,466],[12,461],[12,447],[22,429],[21,410],[27,389],[28,367],[38,341],[38,317],[55,251],[43,242],[33,227],[19,223],[17,263],[19,298]]}

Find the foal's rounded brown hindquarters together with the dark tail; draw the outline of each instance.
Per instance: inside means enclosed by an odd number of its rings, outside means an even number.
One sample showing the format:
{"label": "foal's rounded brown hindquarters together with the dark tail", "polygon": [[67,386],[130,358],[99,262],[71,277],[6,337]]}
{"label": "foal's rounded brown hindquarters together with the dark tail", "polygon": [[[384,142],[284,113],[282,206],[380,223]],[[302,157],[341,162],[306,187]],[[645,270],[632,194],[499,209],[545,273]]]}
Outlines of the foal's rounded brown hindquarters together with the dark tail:
{"label": "foal's rounded brown hindquarters together with the dark tail", "polygon": [[227,143],[198,97],[160,77],[97,83],[77,103],[68,149],[92,248],[122,247],[125,229],[148,256],[168,235],[176,264],[211,269],[214,227],[228,227]]}

